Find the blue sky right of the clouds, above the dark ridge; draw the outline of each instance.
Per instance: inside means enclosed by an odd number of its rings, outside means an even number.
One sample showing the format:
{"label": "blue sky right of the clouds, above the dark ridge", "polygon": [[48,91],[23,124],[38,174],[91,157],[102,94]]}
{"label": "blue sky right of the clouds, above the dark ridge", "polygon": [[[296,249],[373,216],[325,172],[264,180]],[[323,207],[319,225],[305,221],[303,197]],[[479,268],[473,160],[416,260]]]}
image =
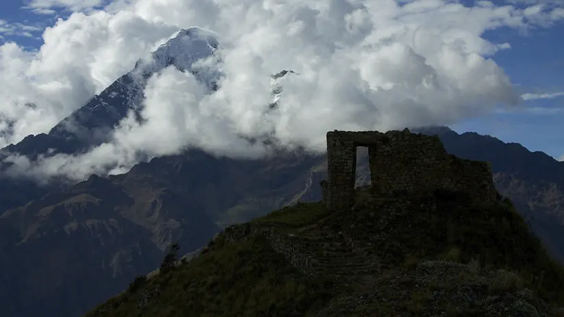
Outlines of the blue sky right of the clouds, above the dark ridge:
{"label": "blue sky right of the clouds, above the dark ridge", "polygon": [[[493,59],[513,84],[520,85],[517,89],[548,93],[564,91],[563,34],[564,23],[558,23],[550,29],[531,29],[527,35],[515,29],[496,30],[485,34],[485,38],[511,44],[511,49],[499,51]],[[531,151],[543,151],[556,158],[563,155],[564,97],[528,101],[527,106],[539,107],[539,111],[498,113],[453,128],[521,143]]]}

